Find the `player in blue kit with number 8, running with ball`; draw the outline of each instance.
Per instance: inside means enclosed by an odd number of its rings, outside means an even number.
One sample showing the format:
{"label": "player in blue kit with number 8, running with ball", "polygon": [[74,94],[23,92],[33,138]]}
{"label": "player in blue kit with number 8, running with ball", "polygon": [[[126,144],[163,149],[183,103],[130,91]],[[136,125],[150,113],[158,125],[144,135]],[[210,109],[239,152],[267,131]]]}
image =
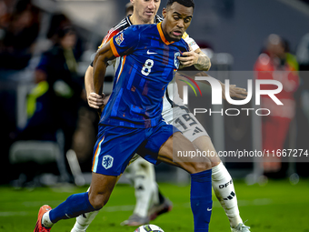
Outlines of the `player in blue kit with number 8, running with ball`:
{"label": "player in blue kit with number 8, running with ball", "polygon": [[[107,203],[117,177],[137,152],[149,162],[165,162],[191,174],[194,231],[208,231],[212,212],[211,162],[174,161],[177,151],[193,144],[162,118],[166,86],[179,68],[177,57],[189,51],[182,35],[191,23],[193,0],[166,5],[158,25],[132,25],[96,54],[93,92],[102,93],[107,61],[123,56],[113,93],[101,116],[89,192],[75,194],[52,209],[40,208],[35,232],[48,232],[61,219],[98,210]],[[175,142],[176,141],[176,142]]]}

